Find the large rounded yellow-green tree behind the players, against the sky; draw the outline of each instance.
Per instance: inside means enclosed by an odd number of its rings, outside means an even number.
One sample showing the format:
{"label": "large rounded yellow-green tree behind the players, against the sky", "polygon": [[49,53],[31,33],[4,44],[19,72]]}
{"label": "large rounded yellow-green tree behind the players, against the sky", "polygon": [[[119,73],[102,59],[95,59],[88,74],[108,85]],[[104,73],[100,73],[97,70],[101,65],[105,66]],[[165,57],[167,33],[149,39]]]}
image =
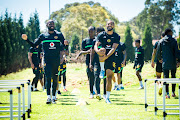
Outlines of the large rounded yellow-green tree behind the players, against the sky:
{"label": "large rounded yellow-green tree behind the players, against the sky", "polygon": [[66,4],[64,8],[53,12],[51,19],[61,23],[61,31],[69,41],[75,33],[81,40],[88,37],[89,26],[105,26],[109,19],[115,21],[116,24],[119,23],[110,11],[93,1]]}

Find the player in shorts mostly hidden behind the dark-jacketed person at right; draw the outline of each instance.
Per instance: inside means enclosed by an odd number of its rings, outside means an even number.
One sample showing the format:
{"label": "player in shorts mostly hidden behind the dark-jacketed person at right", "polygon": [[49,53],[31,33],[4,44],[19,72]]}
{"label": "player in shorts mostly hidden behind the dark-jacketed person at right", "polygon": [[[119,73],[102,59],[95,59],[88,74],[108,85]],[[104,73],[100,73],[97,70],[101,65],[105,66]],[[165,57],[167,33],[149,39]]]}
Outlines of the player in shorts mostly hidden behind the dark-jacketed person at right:
{"label": "player in shorts mostly hidden behind the dark-jacketed person at right", "polygon": [[[162,33],[161,39],[165,36],[165,33]],[[159,41],[157,41],[154,45],[153,53],[152,53],[152,59],[151,59],[151,66],[154,68],[155,66],[155,61],[156,61],[156,77],[157,79],[161,79],[161,73],[163,72],[162,70],[162,61],[159,62],[158,60],[155,60],[156,58],[156,51],[157,51],[157,46],[158,46]],[[159,84],[159,95],[162,94],[162,85],[161,82],[158,82]]]}

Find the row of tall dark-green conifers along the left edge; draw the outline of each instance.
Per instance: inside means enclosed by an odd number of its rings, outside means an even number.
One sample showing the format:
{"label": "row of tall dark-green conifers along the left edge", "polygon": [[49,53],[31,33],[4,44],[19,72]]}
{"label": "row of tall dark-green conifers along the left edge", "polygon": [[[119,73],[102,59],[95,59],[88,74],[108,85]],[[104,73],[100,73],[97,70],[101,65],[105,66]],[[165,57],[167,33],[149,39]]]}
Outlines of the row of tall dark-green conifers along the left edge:
{"label": "row of tall dark-green conifers along the left edge", "polygon": [[21,39],[21,34],[28,34],[34,40],[40,34],[39,16],[37,11],[29,18],[24,27],[23,15],[12,18],[8,11],[0,16],[0,76],[17,72],[29,67],[27,53],[30,46]]}

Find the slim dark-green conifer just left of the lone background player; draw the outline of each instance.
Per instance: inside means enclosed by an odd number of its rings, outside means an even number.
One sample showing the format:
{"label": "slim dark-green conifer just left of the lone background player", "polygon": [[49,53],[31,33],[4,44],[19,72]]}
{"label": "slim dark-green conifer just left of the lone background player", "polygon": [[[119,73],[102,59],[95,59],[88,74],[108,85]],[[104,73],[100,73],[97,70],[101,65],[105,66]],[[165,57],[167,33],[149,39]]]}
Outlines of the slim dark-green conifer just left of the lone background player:
{"label": "slim dark-green conifer just left of the lone background player", "polygon": [[131,34],[131,28],[129,27],[128,24],[125,31],[125,45],[127,52],[127,61],[130,60],[131,62],[134,60],[134,48],[132,44],[133,44],[133,38]]}

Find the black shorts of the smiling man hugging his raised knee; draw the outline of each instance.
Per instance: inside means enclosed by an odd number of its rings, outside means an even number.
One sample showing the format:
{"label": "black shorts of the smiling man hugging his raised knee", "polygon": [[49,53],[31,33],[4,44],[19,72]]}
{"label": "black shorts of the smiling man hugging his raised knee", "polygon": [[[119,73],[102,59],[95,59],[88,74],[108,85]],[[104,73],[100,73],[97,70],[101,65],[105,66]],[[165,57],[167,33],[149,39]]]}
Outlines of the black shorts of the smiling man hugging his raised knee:
{"label": "black shorts of the smiling man hugging his raised knee", "polygon": [[115,64],[114,64],[114,58],[113,57],[109,57],[104,64],[105,70],[110,69],[110,70],[114,70],[115,69]]}

